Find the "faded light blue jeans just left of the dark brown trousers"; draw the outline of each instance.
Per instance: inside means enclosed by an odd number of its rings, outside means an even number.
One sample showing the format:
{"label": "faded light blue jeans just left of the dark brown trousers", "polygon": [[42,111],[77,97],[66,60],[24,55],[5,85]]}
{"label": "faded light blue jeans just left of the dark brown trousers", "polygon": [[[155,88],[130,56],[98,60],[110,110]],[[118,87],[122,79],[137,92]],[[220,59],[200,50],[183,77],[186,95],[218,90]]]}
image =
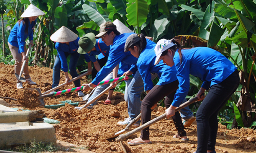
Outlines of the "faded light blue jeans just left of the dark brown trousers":
{"label": "faded light blue jeans just left of the dark brown trousers", "polygon": [[[125,87],[124,99],[128,103],[129,117],[134,119],[140,114],[140,94],[144,91],[144,83],[138,70],[130,80],[125,81],[127,88]],[[140,124],[140,120],[137,123]]]}

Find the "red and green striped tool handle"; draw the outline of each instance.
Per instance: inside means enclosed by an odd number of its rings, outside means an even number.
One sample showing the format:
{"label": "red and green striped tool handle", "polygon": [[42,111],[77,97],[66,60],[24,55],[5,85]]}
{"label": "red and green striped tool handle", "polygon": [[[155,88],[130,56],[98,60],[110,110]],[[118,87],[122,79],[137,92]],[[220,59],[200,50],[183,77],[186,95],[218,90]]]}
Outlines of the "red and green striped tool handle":
{"label": "red and green striped tool handle", "polygon": [[[115,78],[115,79],[111,79],[111,80],[101,81],[101,82],[98,83],[97,86],[105,85],[105,84],[110,84],[110,83],[113,83],[113,82],[118,82],[118,81],[123,81],[123,80],[128,80],[128,79],[133,78],[133,75],[128,75],[128,76],[126,76],[126,78],[124,78],[124,77],[125,76],[119,77],[119,78]],[[40,95],[37,98],[57,96],[57,95],[65,94],[65,93],[79,91],[79,90],[82,90],[82,89],[83,89],[83,86],[80,86],[80,87],[75,87],[75,88],[72,88],[72,89],[66,89],[66,90],[61,90],[61,91],[57,91],[57,92],[54,92],[54,93],[48,93],[48,94]]]}

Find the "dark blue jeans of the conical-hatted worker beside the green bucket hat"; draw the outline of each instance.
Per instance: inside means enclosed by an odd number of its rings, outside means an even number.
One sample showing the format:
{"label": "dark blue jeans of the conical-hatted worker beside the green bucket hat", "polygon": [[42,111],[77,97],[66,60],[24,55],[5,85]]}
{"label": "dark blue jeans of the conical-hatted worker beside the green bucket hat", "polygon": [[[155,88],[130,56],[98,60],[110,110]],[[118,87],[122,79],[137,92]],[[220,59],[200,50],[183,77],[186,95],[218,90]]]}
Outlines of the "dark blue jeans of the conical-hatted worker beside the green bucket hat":
{"label": "dark blue jeans of the conical-hatted worker beside the green bucket hat", "polygon": [[[80,54],[75,52],[73,54],[65,54],[66,58],[70,55],[70,62],[69,62],[69,73],[72,76],[72,78],[75,78],[78,76],[76,72],[76,65],[78,62],[78,59],[80,57]],[[57,54],[54,65],[53,65],[53,74],[52,74],[52,88],[57,87],[59,85],[59,79],[60,79],[60,69],[61,69],[61,62],[59,59],[59,54]],[[75,87],[81,86],[80,79],[74,81]]]}

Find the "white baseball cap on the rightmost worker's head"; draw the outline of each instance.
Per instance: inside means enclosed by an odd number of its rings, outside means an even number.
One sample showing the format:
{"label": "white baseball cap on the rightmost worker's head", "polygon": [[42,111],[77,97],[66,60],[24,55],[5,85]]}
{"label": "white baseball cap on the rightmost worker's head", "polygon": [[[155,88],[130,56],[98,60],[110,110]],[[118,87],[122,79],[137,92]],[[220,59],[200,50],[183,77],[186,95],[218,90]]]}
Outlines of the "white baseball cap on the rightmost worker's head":
{"label": "white baseball cap on the rightmost worker's head", "polygon": [[172,41],[167,40],[167,39],[160,39],[157,42],[157,45],[155,47],[155,54],[157,56],[156,57],[156,61],[155,61],[155,65],[157,65],[161,61],[160,56],[162,55],[162,53],[166,49],[168,49],[168,48],[170,48],[170,47],[172,47],[174,45],[177,45],[177,44],[174,44]]}

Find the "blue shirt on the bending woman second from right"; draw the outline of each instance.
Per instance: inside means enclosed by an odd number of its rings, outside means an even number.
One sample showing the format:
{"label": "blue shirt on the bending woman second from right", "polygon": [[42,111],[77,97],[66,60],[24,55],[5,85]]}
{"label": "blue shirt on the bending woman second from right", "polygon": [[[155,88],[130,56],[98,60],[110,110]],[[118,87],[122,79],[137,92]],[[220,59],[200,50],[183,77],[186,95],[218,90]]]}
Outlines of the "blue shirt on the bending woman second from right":
{"label": "blue shirt on the bending woman second from right", "polygon": [[146,40],[147,45],[144,50],[142,50],[142,53],[140,54],[137,61],[137,68],[144,82],[145,91],[151,90],[154,87],[154,84],[151,80],[151,72],[158,74],[160,79],[157,85],[160,86],[177,80],[177,72],[174,66],[169,67],[168,65],[164,64],[162,60],[157,65],[155,65],[156,54],[154,52],[154,48],[156,43],[148,39]]}

